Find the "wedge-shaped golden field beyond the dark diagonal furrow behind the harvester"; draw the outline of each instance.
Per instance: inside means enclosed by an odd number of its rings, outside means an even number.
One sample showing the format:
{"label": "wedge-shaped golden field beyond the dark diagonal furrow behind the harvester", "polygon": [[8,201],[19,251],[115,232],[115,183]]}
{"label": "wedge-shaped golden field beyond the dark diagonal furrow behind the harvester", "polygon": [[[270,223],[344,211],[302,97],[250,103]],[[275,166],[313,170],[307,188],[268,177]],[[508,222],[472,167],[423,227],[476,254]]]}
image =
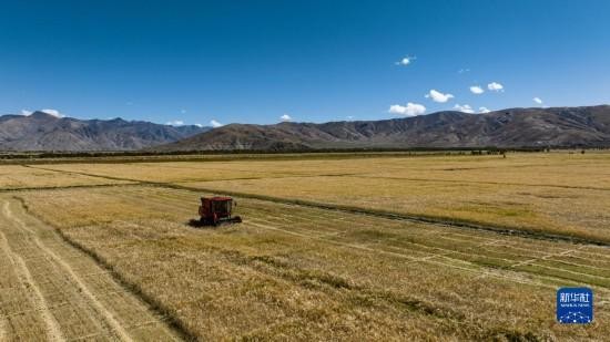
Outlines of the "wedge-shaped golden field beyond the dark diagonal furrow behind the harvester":
{"label": "wedge-shaped golden field beyond the dark diagonal furrow behind the harvester", "polygon": [[70,164],[45,169],[312,200],[610,243],[610,154]]}

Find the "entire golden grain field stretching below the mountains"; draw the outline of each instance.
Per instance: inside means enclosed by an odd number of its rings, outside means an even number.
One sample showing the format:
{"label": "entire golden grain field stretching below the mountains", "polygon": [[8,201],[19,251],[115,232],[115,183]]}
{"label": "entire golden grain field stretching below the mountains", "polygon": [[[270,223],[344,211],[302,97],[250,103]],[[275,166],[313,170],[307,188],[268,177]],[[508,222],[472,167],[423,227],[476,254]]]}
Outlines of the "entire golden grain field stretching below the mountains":
{"label": "entire golden grain field stretching below the mountains", "polygon": [[60,162],[0,166],[0,340],[610,335],[610,154]]}

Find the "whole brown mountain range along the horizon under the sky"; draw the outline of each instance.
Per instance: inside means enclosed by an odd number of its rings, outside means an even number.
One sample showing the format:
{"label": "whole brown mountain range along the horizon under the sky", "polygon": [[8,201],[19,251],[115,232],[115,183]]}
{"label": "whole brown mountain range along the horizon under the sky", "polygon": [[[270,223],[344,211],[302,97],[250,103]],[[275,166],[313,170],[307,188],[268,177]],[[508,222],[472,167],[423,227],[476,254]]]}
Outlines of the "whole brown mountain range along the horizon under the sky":
{"label": "whole brown mountain range along the horizon under the sky", "polygon": [[217,128],[0,116],[0,151],[305,151],[340,148],[610,147],[610,106],[438,112],[414,117]]}

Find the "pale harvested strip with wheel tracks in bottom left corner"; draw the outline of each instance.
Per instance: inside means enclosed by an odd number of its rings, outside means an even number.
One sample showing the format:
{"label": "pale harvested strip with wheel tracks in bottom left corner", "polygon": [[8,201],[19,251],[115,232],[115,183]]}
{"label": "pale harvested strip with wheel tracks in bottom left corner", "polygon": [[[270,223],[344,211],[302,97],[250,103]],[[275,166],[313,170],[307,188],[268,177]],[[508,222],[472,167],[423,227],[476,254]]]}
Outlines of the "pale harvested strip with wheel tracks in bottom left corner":
{"label": "pale harvested strip with wheel tracks in bottom left corner", "polygon": [[0,341],[179,336],[89,256],[0,197]]}

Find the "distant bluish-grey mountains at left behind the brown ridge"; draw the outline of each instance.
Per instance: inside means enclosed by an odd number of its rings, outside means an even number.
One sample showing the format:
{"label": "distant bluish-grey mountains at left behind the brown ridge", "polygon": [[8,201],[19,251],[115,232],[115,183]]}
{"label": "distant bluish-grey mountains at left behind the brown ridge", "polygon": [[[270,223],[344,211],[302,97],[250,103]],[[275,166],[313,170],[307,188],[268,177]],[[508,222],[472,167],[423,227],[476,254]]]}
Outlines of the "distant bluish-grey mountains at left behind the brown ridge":
{"label": "distant bluish-grey mountains at left behind the brown ridge", "polygon": [[121,118],[77,120],[44,112],[0,116],[1,151],[131,151],[175,142],[210,128]]}

